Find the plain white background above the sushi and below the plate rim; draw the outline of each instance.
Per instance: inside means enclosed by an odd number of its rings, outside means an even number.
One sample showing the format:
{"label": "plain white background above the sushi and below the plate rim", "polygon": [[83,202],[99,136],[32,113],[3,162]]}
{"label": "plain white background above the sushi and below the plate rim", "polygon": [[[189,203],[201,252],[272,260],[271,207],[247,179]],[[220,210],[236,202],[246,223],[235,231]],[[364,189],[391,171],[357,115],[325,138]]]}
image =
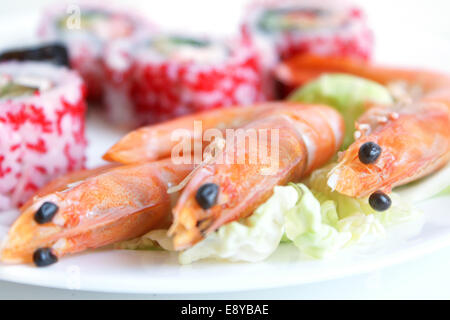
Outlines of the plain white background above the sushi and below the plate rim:
{"label": "plain white background above the sushi and below the plate rim", "polygon": [[[319,0],[318,0],[319,1]],[[36,19],[38,13],[48,3],[54,1],[1,0],[0,21],[3,18],[20,14],[22,19]],[[243,5],[240,0],[150,0],[117,1],[139,8],[156,24],[164,28],[193,32],[230,35],[237,30]],[[431,47],[424,38],[450,41],[450,1],[448,0],[360,0],[355,1],[366,8],[370,23],[376,31],[377,50],[382,47],[377,58],[385,55],[398,63],[419,61],[424,51],[439,51]],[[16,21],[17,22],[17,21]],[[16,30],[7,24],[0,37],[0,47],[21,41]],[[6,32],[5,32],[6,31]],[[398,35],[385,40],[383,35],[390,32]],[[34,30],[21,30],[20,35],[32,34]],[[414,41],[410,56],[396,54],[396,47],[402,41]],[[434,43],[434,42],[433,42]],[[378,51],[377,51],[378,52]],[[450,57],[443,56],[427,65],[450,71]],[[386,268],[375,273],[350,278],[327,281],[301,287],[263,290],[214,295],[163,296],[163,295],[117,295],[103,293],[85,293],[46,289],[25,285],[0,282],[0,298],[261,298],[261,299],[396,299],[396,298],[450,298],[450,277],[448,265],[450,248],[398,266]]]}

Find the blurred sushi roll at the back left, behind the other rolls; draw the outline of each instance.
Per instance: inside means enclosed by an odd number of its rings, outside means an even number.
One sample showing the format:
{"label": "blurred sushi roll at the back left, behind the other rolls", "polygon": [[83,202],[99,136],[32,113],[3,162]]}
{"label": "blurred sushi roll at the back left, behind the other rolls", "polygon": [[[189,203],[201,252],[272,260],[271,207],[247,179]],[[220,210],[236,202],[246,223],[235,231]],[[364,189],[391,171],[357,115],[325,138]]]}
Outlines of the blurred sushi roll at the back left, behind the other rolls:
{"label": "blurred sushi roll at the back left, behind the other rolls", "polygon": [[88,97],[102,96],[102,56],[105,45],[113,40],[153,30],[136,14],[100,4],[81,3],[49,8],[42,19],[39,36],[44,41],[58,41],[69,50],[70,65],[83,77]]}

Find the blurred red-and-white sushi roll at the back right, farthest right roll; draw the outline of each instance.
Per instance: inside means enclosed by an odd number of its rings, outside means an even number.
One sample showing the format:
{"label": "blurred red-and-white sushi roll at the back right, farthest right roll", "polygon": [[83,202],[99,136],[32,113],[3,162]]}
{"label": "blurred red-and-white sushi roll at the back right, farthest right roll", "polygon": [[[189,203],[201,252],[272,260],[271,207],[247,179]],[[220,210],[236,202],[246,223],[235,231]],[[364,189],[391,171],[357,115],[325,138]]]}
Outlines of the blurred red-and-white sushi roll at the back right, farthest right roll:
{"label": "blurred red-and-white sushi roll at the back right, farthest right roll", "polygon": [[297,54],[362,60],[372,55],[373,36],[364,13],[344,0],[255,1],[241,30],[260,54],[264,88],[271,97],[289,92],[273,77],[280,60]]}

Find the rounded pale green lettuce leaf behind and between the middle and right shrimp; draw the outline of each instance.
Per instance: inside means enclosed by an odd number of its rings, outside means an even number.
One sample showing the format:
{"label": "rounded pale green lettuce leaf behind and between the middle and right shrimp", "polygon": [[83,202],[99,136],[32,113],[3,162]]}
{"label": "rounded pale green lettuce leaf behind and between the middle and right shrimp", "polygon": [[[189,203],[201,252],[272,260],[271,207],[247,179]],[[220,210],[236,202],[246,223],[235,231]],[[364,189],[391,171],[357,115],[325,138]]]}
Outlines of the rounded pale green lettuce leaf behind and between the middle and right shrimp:
{"label": "rounded pale green lettuce leaf behind and between the middle and right shrimp", "polygon": [[297,91],[289,100],[321,103],[334,107],[345,121],[345,136],[341,149],[353,142],[355,121],[363,114],[367,104],[391,104],[393,99],[382,85],[348,74],[325,74]]}

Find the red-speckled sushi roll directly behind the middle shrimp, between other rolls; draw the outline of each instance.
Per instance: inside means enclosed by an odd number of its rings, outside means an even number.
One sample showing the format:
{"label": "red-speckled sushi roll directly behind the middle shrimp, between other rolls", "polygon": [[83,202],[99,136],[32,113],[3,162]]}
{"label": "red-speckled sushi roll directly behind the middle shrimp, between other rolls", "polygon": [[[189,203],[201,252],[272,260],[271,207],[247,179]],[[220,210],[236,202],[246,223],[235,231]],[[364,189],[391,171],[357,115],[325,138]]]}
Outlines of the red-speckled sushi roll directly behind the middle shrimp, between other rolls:
{"label": "red-speckled sushi roll directly behind the middle shrimp, between other rolls", "polygon": [[258,55],[237,41],[157,34],[105,54],[105,105],[125,126],[264,100]]}

